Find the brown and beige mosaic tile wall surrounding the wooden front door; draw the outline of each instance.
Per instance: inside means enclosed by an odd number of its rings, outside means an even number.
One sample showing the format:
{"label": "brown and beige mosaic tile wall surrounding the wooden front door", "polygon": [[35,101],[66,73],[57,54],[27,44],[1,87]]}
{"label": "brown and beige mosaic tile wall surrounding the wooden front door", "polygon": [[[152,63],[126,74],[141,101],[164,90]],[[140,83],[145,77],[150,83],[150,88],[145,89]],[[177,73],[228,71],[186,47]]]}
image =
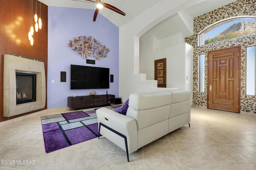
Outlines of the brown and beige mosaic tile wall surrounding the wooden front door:
{"label": "brown and beige mosaic tile wall surrounding the wooden front door", "polygon": [[[198,33],[200,31],[220,20],[235,16],[256,16],[256,0],[238,0],[194,18],[194,35],[185,38],[185,42],[194,47],[193,104],[207,106],[207,52],[228,47],[241,46],[240,111],[256,113],[255,96],[245,95],[245,49],[248,45],[256,45],[256,35],[252,34],[217,43],[198,46]],[[198,56],[200,54],[205,55],[204,93],[198,92]]]}

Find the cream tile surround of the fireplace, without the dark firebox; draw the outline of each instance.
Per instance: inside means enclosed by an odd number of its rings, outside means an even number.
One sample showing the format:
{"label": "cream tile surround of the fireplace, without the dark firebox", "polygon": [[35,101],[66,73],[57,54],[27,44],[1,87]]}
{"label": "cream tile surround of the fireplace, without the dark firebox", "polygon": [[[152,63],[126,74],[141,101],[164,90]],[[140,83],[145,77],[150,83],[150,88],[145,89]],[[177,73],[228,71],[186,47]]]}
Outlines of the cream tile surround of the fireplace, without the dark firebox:
{"label": "cream tile surround of the fireplace, without the dark firebox", "polygon": [[[16,105],[16,72],[36,74],[36,101]],[[46,102],[44,62],[4,55],[4,117],[42,109]]]}

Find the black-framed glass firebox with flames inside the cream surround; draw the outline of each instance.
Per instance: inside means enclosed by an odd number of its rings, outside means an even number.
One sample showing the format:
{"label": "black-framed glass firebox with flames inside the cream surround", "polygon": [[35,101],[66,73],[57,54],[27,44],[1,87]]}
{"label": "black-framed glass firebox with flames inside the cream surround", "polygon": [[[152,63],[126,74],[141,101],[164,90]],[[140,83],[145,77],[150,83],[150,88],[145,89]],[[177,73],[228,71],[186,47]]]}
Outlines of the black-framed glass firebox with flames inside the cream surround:
{"label": "black-framed glass firebox with flames inside the cream surround", "polygon": [[16,104],[36,101],[36,74],[16,72]]}

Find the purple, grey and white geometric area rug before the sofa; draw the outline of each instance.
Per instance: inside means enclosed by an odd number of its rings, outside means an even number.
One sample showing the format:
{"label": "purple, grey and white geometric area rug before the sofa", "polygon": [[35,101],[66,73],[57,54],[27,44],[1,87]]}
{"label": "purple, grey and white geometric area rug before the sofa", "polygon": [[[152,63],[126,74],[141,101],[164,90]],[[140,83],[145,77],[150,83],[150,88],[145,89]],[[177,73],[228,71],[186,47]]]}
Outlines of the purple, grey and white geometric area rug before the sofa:
{"label": "purple, grey and white geometric area rug before the sofa", "polygon": [[41,121],[46,153],[98,137],[96,109],[42,116]]}

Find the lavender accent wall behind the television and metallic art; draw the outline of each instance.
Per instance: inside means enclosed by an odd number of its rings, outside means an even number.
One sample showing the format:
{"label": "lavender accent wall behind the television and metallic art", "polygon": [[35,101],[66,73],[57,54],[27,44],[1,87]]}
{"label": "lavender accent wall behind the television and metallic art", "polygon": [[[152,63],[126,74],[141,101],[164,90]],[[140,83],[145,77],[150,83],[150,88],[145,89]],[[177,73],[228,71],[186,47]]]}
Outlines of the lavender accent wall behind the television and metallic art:
{"label": "lavender accent wall behind the television and metallic art", "polygon": [[[108,90],[108,94],[118,97],[119,28],[100,13],[93,22],[93,14],[94,10],[89,9],[48,7],[48,109],[67,107],[68,96],[85,96],[90,91],[106,94]],[[69,40],[78,36],[91,36],[106,45],[110,49],[108,57],[86,64],[86,59],[68,47]],[[70,64],[110,68],[114,83],[110,83],[109,89],[70,90]],[[60,82],[61,71],[66,72],[66,82]]]}

